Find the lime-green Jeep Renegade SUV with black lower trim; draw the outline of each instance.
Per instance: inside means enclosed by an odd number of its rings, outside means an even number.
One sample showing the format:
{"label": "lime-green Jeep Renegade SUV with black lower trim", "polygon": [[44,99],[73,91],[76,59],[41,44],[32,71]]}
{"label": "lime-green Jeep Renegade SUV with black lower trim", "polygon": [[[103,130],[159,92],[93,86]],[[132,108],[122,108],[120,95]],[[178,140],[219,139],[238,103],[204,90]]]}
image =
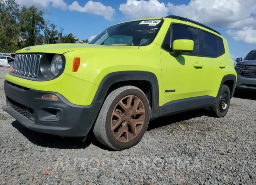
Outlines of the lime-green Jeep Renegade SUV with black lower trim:
{"label": "lime-green Jeep Renegade SUV with black lower trim", "polygon": [[88,44],[48,44],[16,52],[3,109],[25,127],[122,150],[149,120],[211,108],[224,117],[237,74],[217,31],[178,16],[112,25]]}

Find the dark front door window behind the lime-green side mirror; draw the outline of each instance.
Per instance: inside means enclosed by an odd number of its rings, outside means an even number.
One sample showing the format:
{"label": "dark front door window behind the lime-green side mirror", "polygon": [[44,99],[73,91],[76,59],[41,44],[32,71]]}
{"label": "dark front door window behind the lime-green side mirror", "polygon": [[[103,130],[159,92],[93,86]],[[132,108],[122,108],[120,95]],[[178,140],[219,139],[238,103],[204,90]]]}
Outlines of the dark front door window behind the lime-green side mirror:
{"label": "dark front door window behind the lime-green side mirror", "polygon": [[199,42],[198,30],[196,28],[188,27],[180,24],[173,24],[172,27],[172,42],[176,39],[190,39],[194,41],[194,50],[186,55],[198,55]]}

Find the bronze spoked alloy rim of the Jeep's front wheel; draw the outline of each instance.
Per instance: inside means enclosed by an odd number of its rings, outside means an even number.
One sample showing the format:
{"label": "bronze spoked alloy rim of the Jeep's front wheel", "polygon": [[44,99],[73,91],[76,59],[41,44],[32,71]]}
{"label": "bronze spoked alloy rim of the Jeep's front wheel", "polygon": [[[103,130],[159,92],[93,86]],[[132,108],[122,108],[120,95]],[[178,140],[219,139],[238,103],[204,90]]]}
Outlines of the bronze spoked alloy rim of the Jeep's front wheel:
{"label": "bronze spoked alloy rim of the Jeep's front wheel", "polygon": [[134,95],[122,98],[112,112],[110,128],[117,141],[129,142],[141,131],[145,120],[145,108]]}

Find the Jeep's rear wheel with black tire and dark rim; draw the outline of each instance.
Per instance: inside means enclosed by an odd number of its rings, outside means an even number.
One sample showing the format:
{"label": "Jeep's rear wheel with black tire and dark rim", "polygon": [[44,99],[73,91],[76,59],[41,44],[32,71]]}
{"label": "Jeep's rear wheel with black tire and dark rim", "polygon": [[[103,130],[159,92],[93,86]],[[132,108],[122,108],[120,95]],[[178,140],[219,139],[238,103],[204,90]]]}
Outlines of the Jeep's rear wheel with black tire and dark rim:
{"label": "Jeep's rear wheel with black tire and dark rim", "polygon": [[211,106],[214,117],[221,118],[226,116],[230,105],[230,89],[227,85],[221,87],[220,94],[216,97],[216,103]]}

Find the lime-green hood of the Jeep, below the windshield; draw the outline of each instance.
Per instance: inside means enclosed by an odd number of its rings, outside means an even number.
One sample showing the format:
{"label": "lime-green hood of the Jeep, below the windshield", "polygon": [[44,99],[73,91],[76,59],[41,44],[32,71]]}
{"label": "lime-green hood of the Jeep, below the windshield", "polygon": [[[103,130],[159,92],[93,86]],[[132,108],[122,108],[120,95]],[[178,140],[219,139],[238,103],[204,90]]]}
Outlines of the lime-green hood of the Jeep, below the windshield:
{"label": "lime-green hood of the Jeep, below the windshield", "polygon": [[138,49],[139,46],[126,46],[126,45],[97,45],[97,44],[42,44],[25,47],[16,53],[55,53],[63,54],[73,50],[84,49]]}

